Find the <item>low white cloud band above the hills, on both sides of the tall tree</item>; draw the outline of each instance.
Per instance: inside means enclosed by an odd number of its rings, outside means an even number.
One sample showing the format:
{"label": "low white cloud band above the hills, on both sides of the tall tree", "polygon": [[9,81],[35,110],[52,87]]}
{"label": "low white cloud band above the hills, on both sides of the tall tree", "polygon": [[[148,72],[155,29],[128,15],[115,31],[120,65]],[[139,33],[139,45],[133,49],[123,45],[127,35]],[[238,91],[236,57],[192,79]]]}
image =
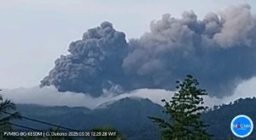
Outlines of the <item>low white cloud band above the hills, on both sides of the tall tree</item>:
{"label": "low white cloud band above the hills, on both sides of the tall tree", "polygon": [[[212,107],[216,104],[229,104],[238,98],[254,97],[256,95],[255,84],[256,77],[253,77],[248,81],[241,82],[241,84],[236,88],[236,92],[232,96],[225,98],[207,97],[205,98],[205,103],[207,106]],[[1,94],[3,95],[3,98],[9,98],[16,104],[85,106],[90,109],[94,109],[97,105],[102,103],[133,96],[148,98],[156,104],[163,105],[160,100],[163,98],[170,100],[172,98],[173,91],[166,91],[163,89],[138,89],[118,96],[108,95],[99,98],[92,98],[84,93],[58,92],[55,87],[32,87],[3,89]]]}

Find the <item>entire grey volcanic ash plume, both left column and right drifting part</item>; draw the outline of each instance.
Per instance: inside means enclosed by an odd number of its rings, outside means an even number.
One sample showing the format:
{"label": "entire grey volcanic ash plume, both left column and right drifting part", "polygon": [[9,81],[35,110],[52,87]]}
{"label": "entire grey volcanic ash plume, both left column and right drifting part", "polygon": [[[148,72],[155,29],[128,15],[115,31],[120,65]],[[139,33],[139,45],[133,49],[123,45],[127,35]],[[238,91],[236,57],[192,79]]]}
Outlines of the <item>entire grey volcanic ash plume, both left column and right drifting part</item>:
{"label": "entire grey volcanic ash plume, both left column and right drifting part", "polygon": [[204,20],[192,11],[182,19],[165,14],[127,45],[125,35],[104,22],[71,43],[71,54],[56,60],[41,86],[99,96],[106,82],[126,90],[173,89],[174,81],[191,74],[211,96],[228,96],[256,74],[255,23],[248,5]]}

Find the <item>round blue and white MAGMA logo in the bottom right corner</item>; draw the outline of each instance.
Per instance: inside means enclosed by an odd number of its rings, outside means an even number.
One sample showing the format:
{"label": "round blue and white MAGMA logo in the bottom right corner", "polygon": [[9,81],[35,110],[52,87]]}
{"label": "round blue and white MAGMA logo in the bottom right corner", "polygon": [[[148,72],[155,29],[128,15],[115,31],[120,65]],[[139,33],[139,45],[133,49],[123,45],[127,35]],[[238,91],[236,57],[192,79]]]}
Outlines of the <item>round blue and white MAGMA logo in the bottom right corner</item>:
{"label": "round blue and white MAGMA logo in the bottom right corner", "polygon": [[230,127],[236,137],[247,137],[253,132],[253,120],[247,115],[237,115],[231,121]]}

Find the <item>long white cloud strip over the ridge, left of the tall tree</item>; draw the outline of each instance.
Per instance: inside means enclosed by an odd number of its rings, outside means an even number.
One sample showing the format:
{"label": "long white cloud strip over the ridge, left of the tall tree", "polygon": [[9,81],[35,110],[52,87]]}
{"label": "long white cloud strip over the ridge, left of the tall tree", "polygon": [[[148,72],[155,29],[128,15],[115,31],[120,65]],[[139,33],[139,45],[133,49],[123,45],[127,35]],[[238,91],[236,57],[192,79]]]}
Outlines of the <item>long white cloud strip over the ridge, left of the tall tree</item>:
{"label": "long white cloud strip over the ridge, left of the tall tree", "polygon": [[3,95],[3,98],[9,98],[13,102],[15,102],[15,104],[41,104],[47,106],[85,106],[90,109],[94,109],[97,105],[100,105],[104,102],[109,102],[131,96],[150,98],[154,103],[158,104],[160,104],[160,100],[162,98],[172,97],[172,92],[166,90],[140,89],[114,97],[108,95],[99,98],[93,98],[90,97],[90,95],[84,93],[58,92],[55,87],[3,89],[1,94]]}

